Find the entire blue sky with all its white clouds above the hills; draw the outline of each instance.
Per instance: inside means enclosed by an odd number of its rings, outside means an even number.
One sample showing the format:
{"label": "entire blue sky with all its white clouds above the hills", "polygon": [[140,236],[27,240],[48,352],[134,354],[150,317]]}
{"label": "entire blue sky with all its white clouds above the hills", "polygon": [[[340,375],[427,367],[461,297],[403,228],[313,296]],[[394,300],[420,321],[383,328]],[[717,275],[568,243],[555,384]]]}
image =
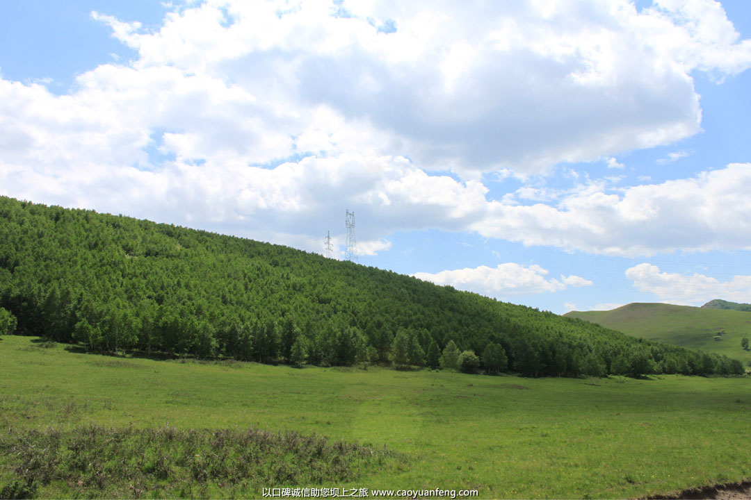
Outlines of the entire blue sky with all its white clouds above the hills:
{"label": "entire blue sky with all its white clouds above the hills", "polygon": [[566,313],[751,302],[747,0],[0,4],[0,194]]}

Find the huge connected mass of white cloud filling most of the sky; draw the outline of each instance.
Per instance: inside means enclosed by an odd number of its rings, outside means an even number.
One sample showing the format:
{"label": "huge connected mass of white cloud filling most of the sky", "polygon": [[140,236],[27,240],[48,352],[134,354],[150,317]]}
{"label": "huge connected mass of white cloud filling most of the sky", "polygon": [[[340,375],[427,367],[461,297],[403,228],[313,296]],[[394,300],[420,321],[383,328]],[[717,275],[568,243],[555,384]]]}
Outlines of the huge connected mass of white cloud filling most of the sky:
{"label": "huge connected mass of white cloud filling most of the sky", "polygon": [[149,31],[92,19],[137,58],[65,95],[0,79],[0,192],[316,251],[345,208],[365,253],[428,227],[629,256],[751,246],[747,165],[502,200],[478,180],[619,166],[697,132],[692,71],[751,64],[716,2],[207,0]]}

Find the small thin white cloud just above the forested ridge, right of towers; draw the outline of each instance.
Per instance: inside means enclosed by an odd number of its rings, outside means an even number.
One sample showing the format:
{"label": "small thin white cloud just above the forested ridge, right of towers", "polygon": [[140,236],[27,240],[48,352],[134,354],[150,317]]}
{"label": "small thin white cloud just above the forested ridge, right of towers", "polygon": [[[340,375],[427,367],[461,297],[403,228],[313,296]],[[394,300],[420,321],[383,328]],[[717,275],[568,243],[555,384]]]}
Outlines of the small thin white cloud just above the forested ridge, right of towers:
{"label": "small thin white cloud just above the forested ridge, right of towers", "polygon": [[548,271],[539,265],[520,265],[515,262],[499,264],[495,268],[481,265],[439,273],[415,273],[413,276],[457,289],[475,292],[499,299],[512,295],[532,295],[559,292],[569,286],[590,286],[593,283],[578,276],[563,276],[560,280],[548,279]]}

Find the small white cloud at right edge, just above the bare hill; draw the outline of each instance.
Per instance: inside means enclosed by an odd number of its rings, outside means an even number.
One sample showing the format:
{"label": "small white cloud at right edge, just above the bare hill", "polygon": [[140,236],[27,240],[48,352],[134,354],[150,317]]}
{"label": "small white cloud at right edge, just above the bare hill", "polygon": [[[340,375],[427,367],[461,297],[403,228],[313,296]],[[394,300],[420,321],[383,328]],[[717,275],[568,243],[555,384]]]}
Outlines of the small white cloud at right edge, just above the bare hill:
{"label": "small white cloud at right edge, just above the bare hill", "polygon": [[665,273],[644,262],[627,269],[626,277],[641,292],[653,293],[671,304],[698,306],[714,298],[751,302],[751,276],[737,275],[732,280],[720,281],[704,274]]}

